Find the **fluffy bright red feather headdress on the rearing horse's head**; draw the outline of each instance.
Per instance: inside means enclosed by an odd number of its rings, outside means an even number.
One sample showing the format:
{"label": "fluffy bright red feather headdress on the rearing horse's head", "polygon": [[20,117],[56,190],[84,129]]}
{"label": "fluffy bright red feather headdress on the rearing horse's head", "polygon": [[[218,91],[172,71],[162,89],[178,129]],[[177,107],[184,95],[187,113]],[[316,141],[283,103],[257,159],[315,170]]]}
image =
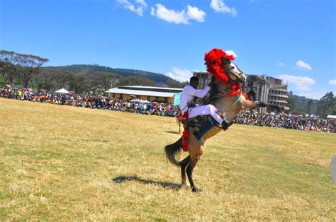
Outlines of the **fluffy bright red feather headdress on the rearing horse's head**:
{"label": "fluffy bright red feather headdress on the rearing horse's head", "polygon": [[229,78],[224,73],[222,66],[222,57],[226,59],[234,60],[233,55],[226,54],[222,49],[211,49],[210,52],[206,53],[204,60],[206,61],[206,71],[217,78],[219,81],[228,83]]}

